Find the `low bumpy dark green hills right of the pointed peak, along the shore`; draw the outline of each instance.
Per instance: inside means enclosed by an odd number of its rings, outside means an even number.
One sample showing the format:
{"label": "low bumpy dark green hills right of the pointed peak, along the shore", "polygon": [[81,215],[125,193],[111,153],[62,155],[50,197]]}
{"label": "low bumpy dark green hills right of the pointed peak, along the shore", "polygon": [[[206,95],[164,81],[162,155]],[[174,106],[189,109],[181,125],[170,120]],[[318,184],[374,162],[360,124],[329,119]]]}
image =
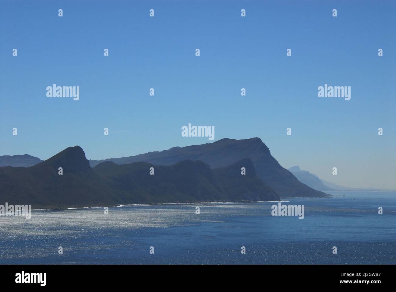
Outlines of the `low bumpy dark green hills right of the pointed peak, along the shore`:
{"label": "low bumpy dark green hills right of the pointed peak, along the shore", "polygon": [[[154,175],[150,175],[150,167]],[[241,174],[246,168],[246,175]],[[146,162],[117,165],[101,163],[93,172],[112,188],[135,195],[135,203],[213,201],[275,201],[279,196],[255,174],[250,159],[221,169],[202,161],[183,160],[175,165],[156,166]]]}

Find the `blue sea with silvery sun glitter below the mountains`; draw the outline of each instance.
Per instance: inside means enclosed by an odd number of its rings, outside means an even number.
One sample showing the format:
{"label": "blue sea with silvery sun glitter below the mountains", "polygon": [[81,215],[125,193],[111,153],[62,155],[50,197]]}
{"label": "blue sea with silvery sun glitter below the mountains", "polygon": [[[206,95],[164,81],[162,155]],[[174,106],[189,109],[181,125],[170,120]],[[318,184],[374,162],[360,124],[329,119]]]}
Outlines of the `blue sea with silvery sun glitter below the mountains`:
{"label": "blue sea with silvery sun glitter below the mountains", "polygon": [[305,205],[304,219],[272,216],[277,202],[0,216],[0,264],[396,264],[396,192],[328,193],[282,202]]}

